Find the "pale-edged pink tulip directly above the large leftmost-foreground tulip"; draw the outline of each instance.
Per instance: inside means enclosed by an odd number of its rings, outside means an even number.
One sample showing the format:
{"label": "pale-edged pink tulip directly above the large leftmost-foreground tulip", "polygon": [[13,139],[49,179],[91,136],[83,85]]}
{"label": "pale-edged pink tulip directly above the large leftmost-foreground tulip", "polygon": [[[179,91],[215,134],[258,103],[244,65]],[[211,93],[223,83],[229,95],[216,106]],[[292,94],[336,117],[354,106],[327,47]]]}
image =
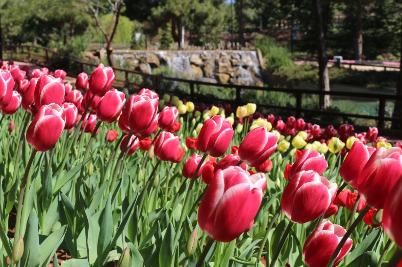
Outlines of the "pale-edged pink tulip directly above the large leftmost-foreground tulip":
{"label": "pale-edged pink tulip directly above the large leftmost-foreground tulip", "polygon": [[38,79],[33,93],[36,108],[55,103],[61,105],[64,100],[64,84],[60,78],[50,75]]}

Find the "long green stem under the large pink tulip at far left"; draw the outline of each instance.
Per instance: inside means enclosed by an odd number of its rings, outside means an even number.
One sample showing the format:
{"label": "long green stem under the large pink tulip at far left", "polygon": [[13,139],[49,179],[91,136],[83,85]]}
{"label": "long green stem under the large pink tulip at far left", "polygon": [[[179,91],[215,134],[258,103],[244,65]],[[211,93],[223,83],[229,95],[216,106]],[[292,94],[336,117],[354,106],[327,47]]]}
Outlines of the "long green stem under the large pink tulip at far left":
{"label": "long green stem under the large pink tulip at far left", "polygon": [[[22,209],[23,209],[23,204],[26,203],[26,198],[28,194],[25,194],[25,191],[28,193],[29,192],[29,186],[30,186],[30,177],[29,177],[29,170],[31,169],[33,158],[36,155],[37,150],[32,149],[31,156],[29,157],[28,163],[26,164],[25,167],[25,173],[23,180],[21,182],[21,189],[20,189],[20,195],[18,196],[18,205],[17,205],[17,217],[15,220],[15,236],[18,237],[21,235],[21,214],[22,214]],[[14,238],[14,246],[17,244],[18,238]]]}

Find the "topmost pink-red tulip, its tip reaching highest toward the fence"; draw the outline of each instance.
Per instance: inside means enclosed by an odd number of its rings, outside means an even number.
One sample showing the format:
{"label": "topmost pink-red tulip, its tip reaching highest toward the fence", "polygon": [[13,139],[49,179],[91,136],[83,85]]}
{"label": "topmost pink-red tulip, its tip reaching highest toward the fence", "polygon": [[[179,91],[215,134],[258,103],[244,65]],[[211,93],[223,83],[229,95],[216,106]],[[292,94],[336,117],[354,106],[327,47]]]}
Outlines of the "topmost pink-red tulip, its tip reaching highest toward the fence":
{"label": "topmost pink-red tulip, its tip reaching highest toward the fence", "polygon": [[99,64],[89,78],[89,91],[96,96],[102,97],[110,90],[114,82],[114,72],[111,67]]}

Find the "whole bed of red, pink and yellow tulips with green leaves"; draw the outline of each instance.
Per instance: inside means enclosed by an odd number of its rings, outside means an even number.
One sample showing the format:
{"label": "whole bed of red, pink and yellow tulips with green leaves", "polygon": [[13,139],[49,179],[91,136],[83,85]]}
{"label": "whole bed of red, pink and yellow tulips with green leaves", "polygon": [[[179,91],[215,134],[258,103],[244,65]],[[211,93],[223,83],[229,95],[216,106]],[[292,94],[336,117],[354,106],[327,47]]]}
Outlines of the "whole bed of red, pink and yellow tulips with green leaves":
{"label": "whole bed of red, pink and yellow tulips with green leaves", "polygon": [[1,266],[400,262],[401,143],[376,128],[27,72],[0,69]]}

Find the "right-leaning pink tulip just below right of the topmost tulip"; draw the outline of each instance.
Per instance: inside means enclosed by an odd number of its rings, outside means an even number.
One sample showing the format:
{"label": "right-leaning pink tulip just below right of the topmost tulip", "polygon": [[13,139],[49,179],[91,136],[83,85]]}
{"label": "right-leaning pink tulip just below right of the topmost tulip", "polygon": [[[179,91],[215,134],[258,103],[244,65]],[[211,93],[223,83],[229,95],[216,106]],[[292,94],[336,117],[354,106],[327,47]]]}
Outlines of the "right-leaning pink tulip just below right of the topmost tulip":
{"label": "right-leaning pink tulip just below right of the topmost tulip", "polygon": [[101,121],[112,123],[122,113],[124,104],[126,104],[126,95],[124,92],[111,89],[100,99],[96,108],[96,115]]}

